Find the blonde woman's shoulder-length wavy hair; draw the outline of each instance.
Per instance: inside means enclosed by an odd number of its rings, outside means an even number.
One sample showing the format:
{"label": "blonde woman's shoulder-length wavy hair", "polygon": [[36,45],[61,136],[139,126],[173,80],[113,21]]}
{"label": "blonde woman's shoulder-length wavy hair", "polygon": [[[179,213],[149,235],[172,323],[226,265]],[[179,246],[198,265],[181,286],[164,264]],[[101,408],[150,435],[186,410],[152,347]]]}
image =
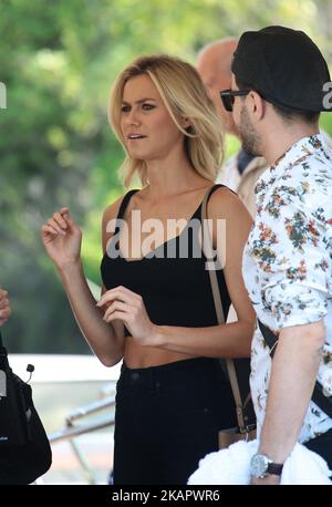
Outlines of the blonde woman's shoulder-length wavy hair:
{"label": "blonde woman's shoulder-length wavy hair", "polygon": [[[121,131],[124,86],[131,77],[141,74],[152,79],[174,123],[184,134],[186,153],[193,167],[203,177],[214,182],[220,169],[224,137],[222,123],[215,104],[193,65],[175,56],[156,54],[136,59],[118,75],[111,92],[108,120],[126,153],[120,168],[125,187],[129,186],[136,170],[142,185],[148,184],[146,162],[129,156]],[[179,117],[188,118],[190,126],[181,127]]]}

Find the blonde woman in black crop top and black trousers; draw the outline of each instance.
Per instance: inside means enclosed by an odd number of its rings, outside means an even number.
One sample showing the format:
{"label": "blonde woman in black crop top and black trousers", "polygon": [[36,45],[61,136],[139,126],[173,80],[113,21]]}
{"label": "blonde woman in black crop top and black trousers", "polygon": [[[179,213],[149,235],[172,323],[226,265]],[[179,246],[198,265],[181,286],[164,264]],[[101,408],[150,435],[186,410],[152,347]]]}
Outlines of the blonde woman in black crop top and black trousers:
{"label": "blonde woman in black crop top and black trousers", "polygon": [[[241,256],[251,219],[235,194],[214,186],[221,127],[191,65],[167,55],[137,59],[114,84],[110,120],[126,153],[125,186],[137,174],[142,188],[104,213],[97,304],[68,208],[48,220],[42,238],[90,346],[107,366],[123,360],[114,483],[186,484],[198,461],[217,451],[218,430],[236,424],[218,358],[250,354],[255,315]],[[217,325],[206,259],[195,248],[197,228],[189,234],[208,189],[215,247],[217,220],[227,225],[218,272],[224,310],[232,302],[238,314],[225,325]]]}

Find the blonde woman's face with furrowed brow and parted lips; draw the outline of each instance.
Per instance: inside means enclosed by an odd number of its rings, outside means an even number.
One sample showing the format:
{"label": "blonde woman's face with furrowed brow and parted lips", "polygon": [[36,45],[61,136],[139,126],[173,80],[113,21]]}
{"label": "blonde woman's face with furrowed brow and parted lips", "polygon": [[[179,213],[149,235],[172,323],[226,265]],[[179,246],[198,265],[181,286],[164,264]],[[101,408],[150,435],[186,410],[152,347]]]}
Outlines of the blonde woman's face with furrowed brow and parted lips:
{"label": "blonde woman's face with furrowed brow and parted lips", "polygon": [[146,74],[129,79],[124,86],[121,130],[129,156],[142,161],[166,158],[184,138]]}

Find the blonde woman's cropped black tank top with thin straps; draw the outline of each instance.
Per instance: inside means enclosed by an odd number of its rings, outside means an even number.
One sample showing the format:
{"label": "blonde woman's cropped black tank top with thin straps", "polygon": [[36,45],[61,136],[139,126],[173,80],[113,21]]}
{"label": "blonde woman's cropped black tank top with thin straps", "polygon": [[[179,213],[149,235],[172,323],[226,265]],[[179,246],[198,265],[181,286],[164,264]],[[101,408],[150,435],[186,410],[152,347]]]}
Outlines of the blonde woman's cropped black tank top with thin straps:
{"label": "blonde woman's cropped black tank top with thin straps", "polygon": [[[221,186],[215,185],[210,195]],[[131,190],[124,196],[117,220],[123,219],[127,204],[136,192],[138,190]],[[218,322],[209,273],[206,270],[207,259],[198,244],[197,228],[189,227],[191,224],[200,225],[200,211],[201,204],[183,232],[154,249],[151,252],[153,256],[131,261],[122,256],[114,258],[107,255],[110,246],[116,247],[114,244],[120,232],[117,225],[101,263],[105,288],[110,290],[123,286],[141,294],[147,314],[155,324],[186,328],[216,325]],[[187,245],[188,250],[186,258],[180,249],[184,245]],[[217,270],[217,278],[227,319],[230,298],[221,269]],[[126,331],[125,334],[129,333]]]}

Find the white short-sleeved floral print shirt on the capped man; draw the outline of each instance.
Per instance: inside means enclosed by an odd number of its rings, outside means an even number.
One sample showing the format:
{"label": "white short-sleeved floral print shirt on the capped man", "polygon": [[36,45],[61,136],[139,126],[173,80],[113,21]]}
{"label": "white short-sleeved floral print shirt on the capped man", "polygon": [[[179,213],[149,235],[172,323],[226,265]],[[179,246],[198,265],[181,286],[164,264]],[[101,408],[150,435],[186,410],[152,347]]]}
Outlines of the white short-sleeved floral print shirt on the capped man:
{"label": "white short-sleeved floral print shirt on the capped man", "polygon": [[[332,395],[332,151],[320,134],[294,144],[256,186],[257,216],[243,252],[243,278],[258,318],[274,332],[324,319],[318,380]],[[251,390],[263,423],[271,359],[257,329]],[[310,402],[299,442],[332,427]]]}

